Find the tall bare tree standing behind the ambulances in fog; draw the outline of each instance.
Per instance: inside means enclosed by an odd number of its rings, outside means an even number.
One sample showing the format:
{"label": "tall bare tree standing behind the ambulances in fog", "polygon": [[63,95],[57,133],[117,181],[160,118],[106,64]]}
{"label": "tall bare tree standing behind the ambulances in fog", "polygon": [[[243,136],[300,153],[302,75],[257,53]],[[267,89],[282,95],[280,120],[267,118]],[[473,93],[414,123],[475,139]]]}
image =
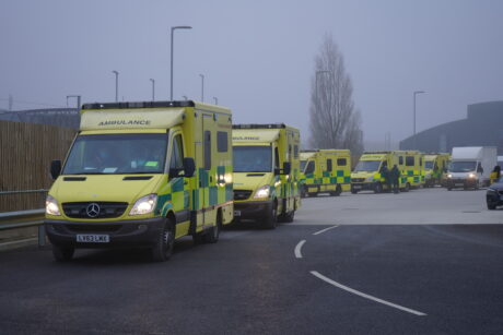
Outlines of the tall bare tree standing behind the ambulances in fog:
{"label": "tall bare tree standing behind the ambulances in fog", "polygon": [[363,152],[361,116],[354,109],[353,85],[344,59],[331,35],[326,35],[315,58],[312,79],[311,145],[316,148],[349,148]]}

